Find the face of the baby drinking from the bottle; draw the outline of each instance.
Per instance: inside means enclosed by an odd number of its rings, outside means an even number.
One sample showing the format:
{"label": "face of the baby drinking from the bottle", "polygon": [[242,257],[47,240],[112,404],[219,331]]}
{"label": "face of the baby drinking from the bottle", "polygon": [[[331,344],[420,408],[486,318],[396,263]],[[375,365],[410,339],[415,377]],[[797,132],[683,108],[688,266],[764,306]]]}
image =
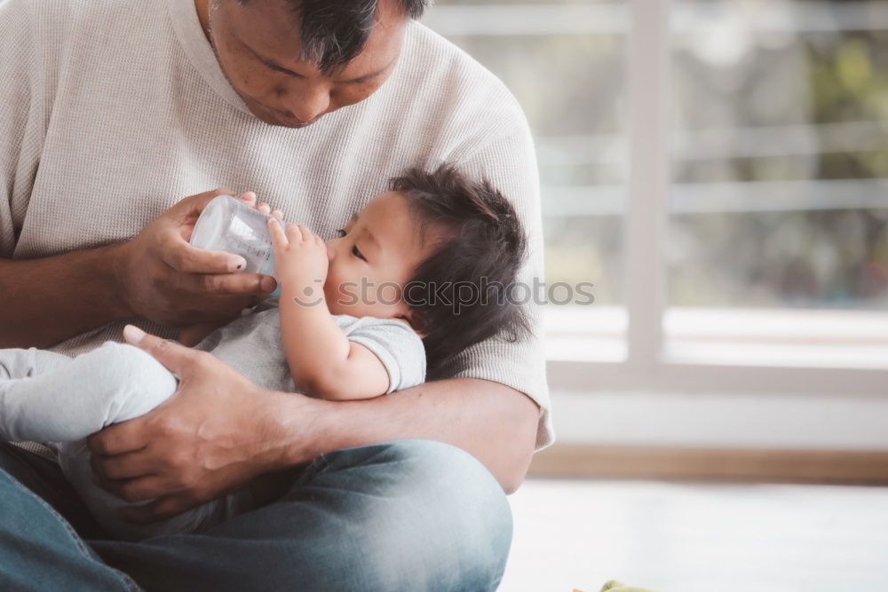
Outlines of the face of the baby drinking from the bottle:
{"label": "face of the baby drinking from the bottle", "polygon": [[324,296],[329,311],[410,322],[400,288],[432,254],[435,241],[428,236],[423,241],[407,198],[397,192],[377,195],[339,234],[327,241]]}

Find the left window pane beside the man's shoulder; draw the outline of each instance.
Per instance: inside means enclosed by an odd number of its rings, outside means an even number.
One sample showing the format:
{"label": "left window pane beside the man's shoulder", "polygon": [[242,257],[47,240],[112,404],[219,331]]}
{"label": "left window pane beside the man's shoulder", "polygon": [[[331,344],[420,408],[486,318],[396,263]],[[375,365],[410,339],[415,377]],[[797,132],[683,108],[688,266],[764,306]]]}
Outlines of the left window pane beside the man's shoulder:
{"label": "left window pane beside the man's shoulder", "polygon": [[499,76],[527,114],[543,187],[546,283],[594,284],[591,306],[547,307],[551,356],[625,359],[628,5],[440,0],[424,23]]}

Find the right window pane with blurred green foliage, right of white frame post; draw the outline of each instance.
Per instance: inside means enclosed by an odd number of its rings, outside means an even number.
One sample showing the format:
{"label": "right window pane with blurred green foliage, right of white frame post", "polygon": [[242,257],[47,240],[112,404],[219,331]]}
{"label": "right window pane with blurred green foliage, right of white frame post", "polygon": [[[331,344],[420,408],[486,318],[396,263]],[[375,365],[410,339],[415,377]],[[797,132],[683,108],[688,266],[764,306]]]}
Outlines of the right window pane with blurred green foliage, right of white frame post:
{"label": "right window pane with blurred green foliage, right of white frame post", "polygon": [[885,367],[888,12],[670,12],[665,344],[674,359]]}

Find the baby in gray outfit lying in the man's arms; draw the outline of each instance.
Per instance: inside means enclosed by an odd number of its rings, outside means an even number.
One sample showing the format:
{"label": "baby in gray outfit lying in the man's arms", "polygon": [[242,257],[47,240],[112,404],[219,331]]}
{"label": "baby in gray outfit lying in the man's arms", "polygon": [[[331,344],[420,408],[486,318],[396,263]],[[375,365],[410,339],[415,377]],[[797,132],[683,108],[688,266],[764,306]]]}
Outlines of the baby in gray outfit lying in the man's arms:
{"label": "baby in gray outfit lying in the man's arms", "polygon": [[[280,298],[207,328],[194,346],[263,388],[369,399],[446,375],[474,343],[529,330],[505,292],[525,257],[519,220],[502,194],[453,167],[392,179],[326,243],[304,225],[272,219],[269,230]],[[74,359],[0,350],[0,438],[59,443],[61,469],[118,538],[199,532],[255,509],[253,487],[131,525],[117,516],[129,504],[93,484],[84,440],[147,414],[176,388],[175,375],[129,344],[109,341]]]}

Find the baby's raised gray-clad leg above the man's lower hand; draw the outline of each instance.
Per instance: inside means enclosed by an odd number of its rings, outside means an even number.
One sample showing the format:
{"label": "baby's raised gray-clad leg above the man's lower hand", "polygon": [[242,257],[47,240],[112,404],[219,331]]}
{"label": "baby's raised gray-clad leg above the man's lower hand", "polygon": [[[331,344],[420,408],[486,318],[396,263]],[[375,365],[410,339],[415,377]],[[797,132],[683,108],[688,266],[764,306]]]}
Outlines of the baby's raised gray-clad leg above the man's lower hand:
{"label": "baby's raised gray-clad leg above the man's lower hand", "polygon": [[0,350],[0,438],[79,440],[146,414],[175,391],[176,377],[132,345],[106,342],[75,359]]}

